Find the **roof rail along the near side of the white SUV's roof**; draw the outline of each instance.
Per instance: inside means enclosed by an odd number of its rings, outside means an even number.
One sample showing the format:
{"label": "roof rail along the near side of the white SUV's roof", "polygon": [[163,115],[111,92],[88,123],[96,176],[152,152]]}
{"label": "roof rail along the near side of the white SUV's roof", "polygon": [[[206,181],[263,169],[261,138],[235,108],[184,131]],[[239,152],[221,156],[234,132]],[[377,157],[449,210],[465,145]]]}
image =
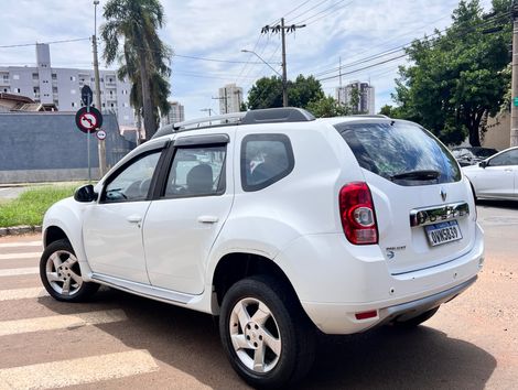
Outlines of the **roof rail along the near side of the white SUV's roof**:
{"label": "roof rail along the near side of the white SUV's roof", "polygon": [[225,113],[192,120],[185,120],[174,124],[160,128],[152,138],[171,134],[177,131],[188,131],[219,126],[281,123],[281,122],[305,122],[315,120],[315,117],[302,109],[294,107],[266,108],[246,112]]}

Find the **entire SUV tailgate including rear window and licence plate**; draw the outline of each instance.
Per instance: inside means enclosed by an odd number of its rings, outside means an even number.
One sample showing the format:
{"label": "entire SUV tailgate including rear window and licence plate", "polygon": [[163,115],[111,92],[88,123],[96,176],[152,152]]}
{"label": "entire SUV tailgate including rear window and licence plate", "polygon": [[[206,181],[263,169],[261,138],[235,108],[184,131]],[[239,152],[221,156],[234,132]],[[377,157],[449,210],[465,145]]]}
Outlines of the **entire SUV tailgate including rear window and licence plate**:
{"label": "entire SUV tailgate including rear window and licence plate", "polygon": [[378,242],[392,274],[470,251],[475,210],[455,159],[430,132],[391,119],[335,124],[373,194]]}

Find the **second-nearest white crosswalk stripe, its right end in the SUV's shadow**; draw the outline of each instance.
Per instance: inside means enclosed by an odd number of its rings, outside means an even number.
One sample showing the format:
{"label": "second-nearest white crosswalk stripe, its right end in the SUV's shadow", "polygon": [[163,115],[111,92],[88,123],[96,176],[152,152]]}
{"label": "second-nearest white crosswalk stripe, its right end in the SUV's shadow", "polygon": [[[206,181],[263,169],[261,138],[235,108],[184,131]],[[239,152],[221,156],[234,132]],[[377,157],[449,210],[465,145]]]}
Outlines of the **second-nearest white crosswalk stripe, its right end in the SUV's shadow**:
{"label": "second-nearest white crosswalk stripe, its right end in the SUV's shadow", "polygon": [[107,310],[74,315],[52,315],[0,322],[0,336],[20,333],[66,329],[86,325],[108,324],[128,319],[121,310]]}

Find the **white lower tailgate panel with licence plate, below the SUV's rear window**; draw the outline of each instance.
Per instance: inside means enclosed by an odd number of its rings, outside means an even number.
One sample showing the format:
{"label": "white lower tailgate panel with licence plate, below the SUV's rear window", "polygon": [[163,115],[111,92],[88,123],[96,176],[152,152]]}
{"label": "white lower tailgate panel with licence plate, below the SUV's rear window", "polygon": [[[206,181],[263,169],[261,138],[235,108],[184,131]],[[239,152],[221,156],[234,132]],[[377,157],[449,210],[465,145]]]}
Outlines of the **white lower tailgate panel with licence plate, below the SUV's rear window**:
{"label": "white lower tailgate panel with licence plate, below the SUV's rear window", "polygon": [[409,187],[368,171],[365,175],[376,207],[379,246],[392,274],[438,266],[473,248],[475,212],[465,182]]}

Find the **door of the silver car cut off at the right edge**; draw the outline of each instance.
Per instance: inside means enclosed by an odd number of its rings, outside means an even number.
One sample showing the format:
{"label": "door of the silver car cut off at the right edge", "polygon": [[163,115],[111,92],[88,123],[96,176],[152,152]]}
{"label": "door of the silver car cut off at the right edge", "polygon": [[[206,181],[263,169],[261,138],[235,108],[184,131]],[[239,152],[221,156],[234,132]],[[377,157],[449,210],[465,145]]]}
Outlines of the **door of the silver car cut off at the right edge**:
{"label": "door of the silver car cut off at the right edge", "polygon": [[496,154],[487,160],[485,167],[476,174],[478,196],[515,197],[518,169],[518,149]]}

